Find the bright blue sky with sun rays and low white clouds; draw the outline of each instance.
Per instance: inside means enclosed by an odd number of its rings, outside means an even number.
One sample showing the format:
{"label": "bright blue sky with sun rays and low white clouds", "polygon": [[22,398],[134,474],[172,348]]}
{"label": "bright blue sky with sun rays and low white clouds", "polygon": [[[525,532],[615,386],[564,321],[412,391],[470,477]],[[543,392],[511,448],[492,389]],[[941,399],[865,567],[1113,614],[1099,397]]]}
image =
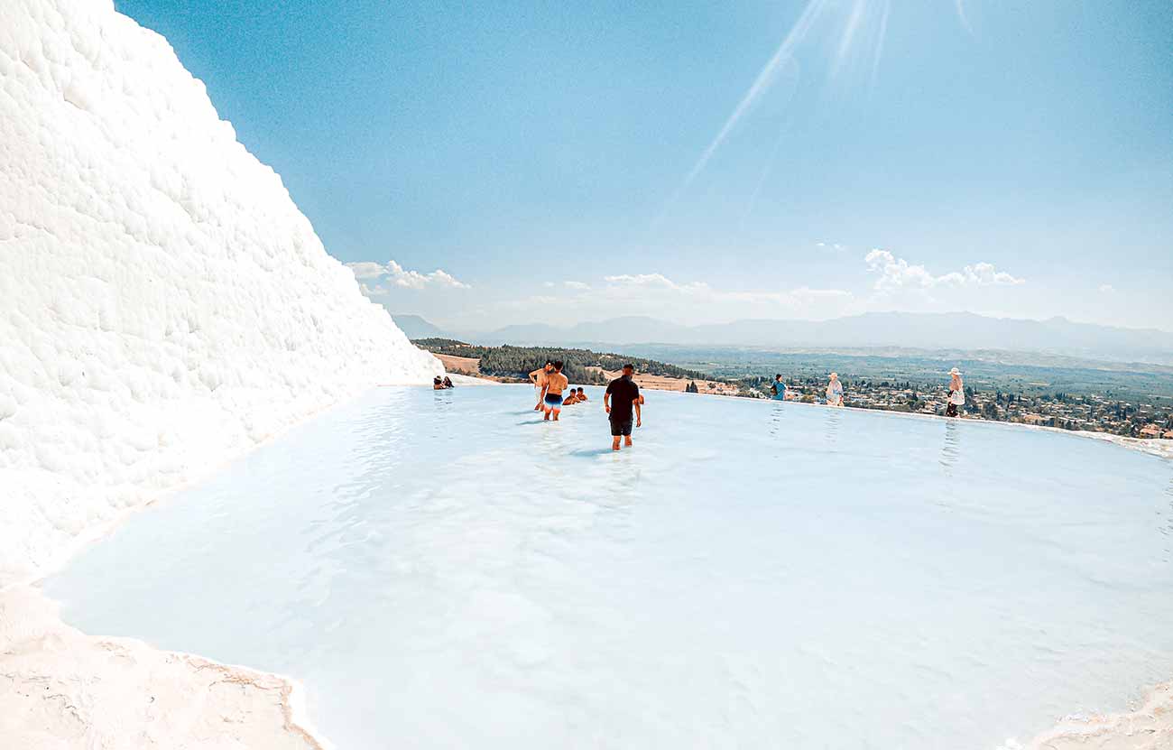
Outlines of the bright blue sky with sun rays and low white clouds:
{"label": "bright blue sky with sun rays and low white clouds", "polygon": [[1167,0],[470,5],[115,2],[393,311],[1173,327]]}

